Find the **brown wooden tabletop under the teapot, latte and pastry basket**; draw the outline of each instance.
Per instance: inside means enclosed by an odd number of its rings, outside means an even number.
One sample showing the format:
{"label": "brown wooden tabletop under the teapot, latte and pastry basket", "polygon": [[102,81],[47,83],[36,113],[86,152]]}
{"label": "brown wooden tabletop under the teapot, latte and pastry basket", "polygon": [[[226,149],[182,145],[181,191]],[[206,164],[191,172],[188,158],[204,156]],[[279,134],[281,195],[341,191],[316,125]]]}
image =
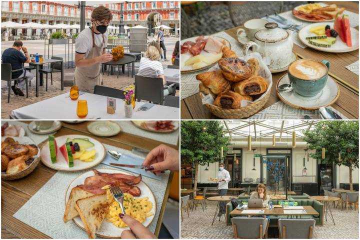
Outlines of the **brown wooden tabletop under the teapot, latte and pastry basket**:
{"label": "brown wooden tabletop under the teapot, latte and pastry basket", "polygon": [[[326,2],[331,4],[332,2]],[[335,2],[337,5],[345,7],[346,10],[358,13],[358,4],[356,2]],[[225,30],[227,34],[237,39],[236,30],[241,26]],[[358,29],[358,26],[355,27]],[[358,50],[331,53],[324,51],[317,51],[310,47],[301,48],[296,44],[293,45],[293,51],[299,58],[312,58],[317,60],[326,59],[330,61],[329,75],[332,76],[339,85],[340,96],[331,106],[340,111],[349,119],[358,119],[358,75],[349,71],[345,66],[358,60]],[[276,82],[286,72],[272,73],[272,88],[270,97],[265,105],[259,110],[274,104],[280,99],[276,95]],[[218,118],[213,115],[201,103],[199,93],[181,99],[181,119],[207,119]]]}

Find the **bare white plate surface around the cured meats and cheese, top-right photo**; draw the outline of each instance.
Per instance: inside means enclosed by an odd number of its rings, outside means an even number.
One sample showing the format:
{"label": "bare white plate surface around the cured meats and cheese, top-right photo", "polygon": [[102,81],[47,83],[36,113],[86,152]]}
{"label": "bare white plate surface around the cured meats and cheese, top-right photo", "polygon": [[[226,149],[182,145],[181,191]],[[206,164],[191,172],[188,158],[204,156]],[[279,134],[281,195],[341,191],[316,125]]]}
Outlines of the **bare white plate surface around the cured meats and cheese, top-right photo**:
{"label": "bare white plate surface around the cured meats and cheese, top-right photo", "polygon": [[[190,38],[186,38],[186,39],[183,39],[181,40],[180,42],[180,45],[182,45],[185,41],[193,41],[195,42],[195,39],[199,37],[199,36],[193,36],[193,37],[190,37]],[[205,38],[209,37],[209,36],[204,36]],[[225,40],[225,45],[231,49],[231,44],[228,40],[226,40],[225,38],[222,38],[220,36],[212,36],[213,38],[215,38],[216,40],[219,40],[219,41],[223,41]],[[201,55],[204,55],[205,57],[206,56],[210,56],[210,55],[213,55],[212,53],[208,53],[206,52],[205,50],[202,50],[200,52]],[[204,69],[207,69],[213,65],[215,65],[217,63],[217,61],[213,62],[213,63],[210,63],[210,64],[207,64],[206,66],[203,66],[203,67],[200,67],[200,68],[192,68],[192,65],[187,65],[185,66],[185,61],[192,57],[192,54],[189,53],[189,52],[186,52],[186,53],[183,53],[181,54],[181,57],[180,57],[180,72],[181,73],[188,73],[188,72],[194,72],[194,71],[199,71],[199,70],[204,70]]]}

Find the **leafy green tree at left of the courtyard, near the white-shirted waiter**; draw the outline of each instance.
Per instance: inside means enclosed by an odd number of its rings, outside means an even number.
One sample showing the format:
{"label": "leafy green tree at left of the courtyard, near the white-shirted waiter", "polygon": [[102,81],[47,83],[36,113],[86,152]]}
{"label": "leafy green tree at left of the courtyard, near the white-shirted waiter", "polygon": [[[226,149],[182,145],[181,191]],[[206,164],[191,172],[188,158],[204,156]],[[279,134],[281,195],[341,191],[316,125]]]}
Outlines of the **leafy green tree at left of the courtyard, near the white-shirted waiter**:
{"label": "leafy green tree at left of the courtyard, near the white-shirted waiter", "polygon": [[224,133],[220,121],[181,121],[181,165],[194,166],[194,189],[198,165],[219,161],[221,146],[227,150],[229,139]]}

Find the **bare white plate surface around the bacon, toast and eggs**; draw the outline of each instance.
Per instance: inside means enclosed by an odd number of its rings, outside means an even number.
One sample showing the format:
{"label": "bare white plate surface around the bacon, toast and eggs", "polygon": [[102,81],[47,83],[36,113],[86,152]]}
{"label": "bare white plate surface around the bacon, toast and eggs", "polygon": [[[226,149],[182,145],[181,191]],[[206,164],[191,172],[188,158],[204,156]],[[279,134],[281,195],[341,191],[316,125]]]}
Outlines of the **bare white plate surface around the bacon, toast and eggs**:
{"label": "bare white plate surface around the bacon, toast and eggs", "polygon": [[[100,172],[106,172],[106,173],[123,173],[123,174],[128,174],[128,175],[134,175],[127,171],[123,171],[123,170],[119,170],[119,169],[102,168],[102,169],[97,169],[97,170]],[[69,184],[69,186],[66,189],[65,202],[67,202],[67,200],[70,196],[71,189],[73,187],[83,184],[86,177],[93,176],[93,175],[94,175],[93,171],[90,170],[90,171],[87,171],[87,172],[79,175],[78,177],[76,177]],[[152,215],[148,216],[145,219],[145,221],[142,223],[144,226],[147,227],[152,222],[152,219],[154,218],[154,215],[156,213],[156,199],[155,199],[155,196],[152,193],[151,189],[142,180],[138,184],[136,184],[136,186],[140,188],[141,195],[138,197],[135,197],[135,198],[148,197],[149,201],[152,202],[152,209],[150,211],[152,213]],[[72,220],[73,220],[73,222],[75,222],[76,225],[78,225],[81,229],[84,230],[84,224],[81,221],[80,216],[77,216],[77,217],[73,218]],[[129,228],[128,227],[117,227],[117,226],[113,225],[111,222],[106,221],[106,219],[105,219],[102,222],[100,228],[98,230],[96,230],[96,235],[99,237],[104,237],[104,238],[120,238],[121,232],[126,229],[129,229]]]}

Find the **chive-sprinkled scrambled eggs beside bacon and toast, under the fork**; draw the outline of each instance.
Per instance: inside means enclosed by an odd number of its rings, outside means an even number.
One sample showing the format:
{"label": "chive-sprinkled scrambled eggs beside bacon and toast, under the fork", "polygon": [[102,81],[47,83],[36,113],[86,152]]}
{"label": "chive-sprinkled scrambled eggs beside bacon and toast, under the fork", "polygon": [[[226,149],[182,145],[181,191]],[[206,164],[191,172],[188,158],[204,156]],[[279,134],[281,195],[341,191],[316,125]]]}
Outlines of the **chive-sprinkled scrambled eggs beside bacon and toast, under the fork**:
{"label": "chive-sprinkled scrambled eggs beside bacon and toast, under the fork", "polygon": [[[113,198],[107,185],[102,188],[106,189],[108,199]],[[146,217],[153,214],[150,212],[152,209],[152,202],[149,201],[148,197],[134,198],[131,194],[124,193],[123,207],[127,215],[132,216],[141,223],[145,221]],[[113,199],[106,214],[106,219],[117,227],[126,227],[127,225],[118,216],[119,213],[122,213],[121,208]]]}

